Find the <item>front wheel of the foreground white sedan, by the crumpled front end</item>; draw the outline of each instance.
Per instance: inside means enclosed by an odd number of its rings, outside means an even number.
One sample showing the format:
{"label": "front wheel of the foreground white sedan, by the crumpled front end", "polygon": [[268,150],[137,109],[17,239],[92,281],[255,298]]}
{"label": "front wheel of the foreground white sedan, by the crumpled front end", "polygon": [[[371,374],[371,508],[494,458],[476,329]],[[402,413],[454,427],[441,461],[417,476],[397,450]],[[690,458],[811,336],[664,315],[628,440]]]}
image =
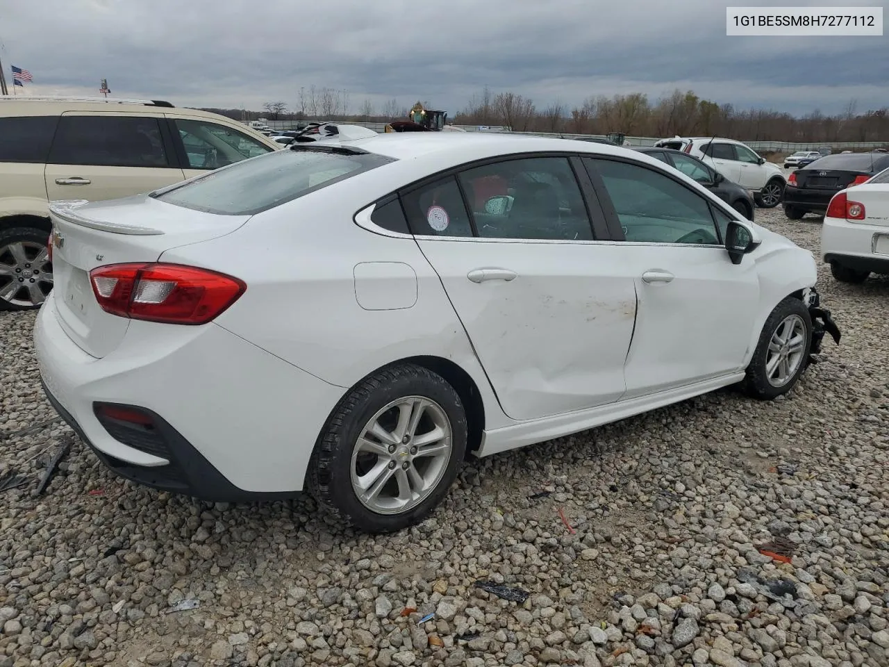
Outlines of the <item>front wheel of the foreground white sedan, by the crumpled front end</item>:
{"label": "front wheel of the foreground white sedan, by the crumpled front end", "polygon": [[747,394],[771,400],[793,389],[808,366],[812,331],[812,317],[803,301],[789,296],[775,306],[747,366],[743,381]]}

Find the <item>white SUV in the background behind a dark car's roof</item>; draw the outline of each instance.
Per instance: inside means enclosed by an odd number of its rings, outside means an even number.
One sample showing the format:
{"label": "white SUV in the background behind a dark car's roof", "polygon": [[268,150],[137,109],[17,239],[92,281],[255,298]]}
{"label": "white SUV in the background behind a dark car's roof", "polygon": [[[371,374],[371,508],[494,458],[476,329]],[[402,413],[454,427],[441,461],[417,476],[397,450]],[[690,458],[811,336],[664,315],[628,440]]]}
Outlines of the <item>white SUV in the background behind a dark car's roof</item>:
{"label": "white SUV in the background behind a dark car's roof", "polygon": [[741,141],[719,137],[673,137],[654,144],[698,157],[722,173],[726,179],[749,189],[757,206],[774,208],[781,204],[787,179],[781,167],[765,161]]}

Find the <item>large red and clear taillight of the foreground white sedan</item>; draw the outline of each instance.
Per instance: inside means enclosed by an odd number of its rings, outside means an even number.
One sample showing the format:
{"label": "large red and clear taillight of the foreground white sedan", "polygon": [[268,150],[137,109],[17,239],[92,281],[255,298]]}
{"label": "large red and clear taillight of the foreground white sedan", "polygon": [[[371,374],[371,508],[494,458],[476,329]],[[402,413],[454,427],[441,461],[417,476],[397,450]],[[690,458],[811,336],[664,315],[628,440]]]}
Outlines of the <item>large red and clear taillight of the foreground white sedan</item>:
{"label": "large red and clear taillight of the foreground white sedan", "polygon": [[244,293],[236,277],[180,264],[110,264],[90,271],[92,292],[112,315],[203,325]]}

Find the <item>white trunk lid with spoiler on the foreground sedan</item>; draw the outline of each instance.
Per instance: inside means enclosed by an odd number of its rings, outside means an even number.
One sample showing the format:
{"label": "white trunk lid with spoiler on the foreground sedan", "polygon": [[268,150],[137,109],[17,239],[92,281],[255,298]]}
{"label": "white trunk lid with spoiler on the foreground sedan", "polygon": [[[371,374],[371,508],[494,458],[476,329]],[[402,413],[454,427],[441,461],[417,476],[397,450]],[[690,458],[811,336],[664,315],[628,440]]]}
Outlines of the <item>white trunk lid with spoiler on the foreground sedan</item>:
{"label": "white trunk lid with spoiler on the foreground sedan", "polygon": [[229,234],[249,215],[216,215],[166,204],[147,195],[103,202],[56,201],[52,219],[52,277],[60,325],[76,345],[102,358],[116,349],[130,325],[100,308],[90,271],[132,261],[157,261],[181,245]]}

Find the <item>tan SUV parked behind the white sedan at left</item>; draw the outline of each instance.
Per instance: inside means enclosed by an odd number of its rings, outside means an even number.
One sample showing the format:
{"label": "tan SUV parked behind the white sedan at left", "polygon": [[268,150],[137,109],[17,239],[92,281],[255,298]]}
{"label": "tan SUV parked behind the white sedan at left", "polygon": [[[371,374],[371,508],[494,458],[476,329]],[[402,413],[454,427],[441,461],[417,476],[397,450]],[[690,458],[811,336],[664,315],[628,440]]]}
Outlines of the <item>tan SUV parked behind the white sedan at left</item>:
{"label": "tan SUV parked behind the white sedan at left", "polygon": [[0,97],[0,310],[38,308],[52,289],[49,201],[146,193],[282,148],[161,100]]}

